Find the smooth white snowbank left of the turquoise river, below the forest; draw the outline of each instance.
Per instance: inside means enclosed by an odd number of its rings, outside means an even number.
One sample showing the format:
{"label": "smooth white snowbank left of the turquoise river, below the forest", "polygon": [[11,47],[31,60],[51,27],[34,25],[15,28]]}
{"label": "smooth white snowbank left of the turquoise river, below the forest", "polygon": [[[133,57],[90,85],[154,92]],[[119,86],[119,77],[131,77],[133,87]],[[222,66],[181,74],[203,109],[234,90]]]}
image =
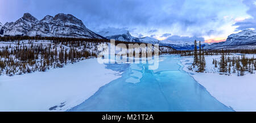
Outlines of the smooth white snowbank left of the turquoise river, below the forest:
{"label": "smooth white snowbank left of the turquoise river, below the forest", "polygon": [[67,111],[119,77],[96,58],[47,72],[1,76],[0,111]]}

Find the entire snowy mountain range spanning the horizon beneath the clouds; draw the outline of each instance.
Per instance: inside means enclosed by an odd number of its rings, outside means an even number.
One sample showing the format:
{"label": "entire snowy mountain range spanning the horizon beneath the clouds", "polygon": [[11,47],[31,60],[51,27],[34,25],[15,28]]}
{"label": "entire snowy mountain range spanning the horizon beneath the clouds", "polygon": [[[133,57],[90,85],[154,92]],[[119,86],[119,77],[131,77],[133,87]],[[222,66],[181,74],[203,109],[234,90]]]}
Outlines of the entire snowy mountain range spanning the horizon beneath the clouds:
{"label": "entire snowy mountain range spanning the horizon beneath the clouds", "polygon": [[[159,41],[152,37],[134,37],[130,32],[113,28],[103,29],[97,33],[86,28],[80,19],[70,14],[47,15],[42,20],[25,13],[16,22],[0,23],[0,36],[42,36],[42,37],[80,37],[86,39],[115,39],[133,43],[151,43],[171,46],[178,50],[193,50],[194,41]],[[251,49],[256,48],[256,32],[246,29],[232,34],[221,43],[201,43],[205,49]]]}

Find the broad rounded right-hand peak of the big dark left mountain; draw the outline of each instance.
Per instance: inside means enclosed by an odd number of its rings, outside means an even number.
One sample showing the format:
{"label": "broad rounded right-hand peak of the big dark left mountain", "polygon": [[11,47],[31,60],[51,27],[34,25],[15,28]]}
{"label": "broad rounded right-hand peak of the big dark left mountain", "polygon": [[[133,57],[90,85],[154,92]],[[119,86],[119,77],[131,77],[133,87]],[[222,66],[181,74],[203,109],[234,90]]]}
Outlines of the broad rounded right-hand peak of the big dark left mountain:
{"label": "broad rounded right-hand peak of the big dark left mountain", "polygon": [[82,37],[102,39],[90,31],[81,20],[70,14],[47,15],[27,33],[28,36]]}

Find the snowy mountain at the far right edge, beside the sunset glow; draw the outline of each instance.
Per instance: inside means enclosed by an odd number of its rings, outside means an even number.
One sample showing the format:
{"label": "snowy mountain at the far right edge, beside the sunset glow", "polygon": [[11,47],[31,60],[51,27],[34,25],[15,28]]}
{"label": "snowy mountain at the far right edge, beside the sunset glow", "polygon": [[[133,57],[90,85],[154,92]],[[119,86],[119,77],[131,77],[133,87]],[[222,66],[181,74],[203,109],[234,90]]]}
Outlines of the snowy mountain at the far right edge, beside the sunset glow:
{"label": "snowy mountain at the far right edge, beside the sunset glow", "polygon": [[206,49],[240,49],[256,47],[256,31],[246,29],[242,32],[228,36],[226,41],[206,46]]}

